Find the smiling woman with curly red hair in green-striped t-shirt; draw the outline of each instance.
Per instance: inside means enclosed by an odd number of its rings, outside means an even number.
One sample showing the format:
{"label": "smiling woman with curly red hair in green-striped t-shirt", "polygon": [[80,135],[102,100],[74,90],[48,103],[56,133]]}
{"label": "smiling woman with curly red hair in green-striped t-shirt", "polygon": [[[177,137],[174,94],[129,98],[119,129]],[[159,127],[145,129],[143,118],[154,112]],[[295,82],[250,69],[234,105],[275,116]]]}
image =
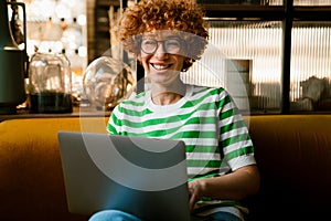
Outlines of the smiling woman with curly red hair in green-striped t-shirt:
{"label": "smiling woman with curly red hair in green-striped t-shirt", "polygon": [[[141,0],[126,9],[119,39],[142,64],[150,88],[121,102],[107,129],[184,140],[192,219],[244,220],[238,202],[259,188],[248,129],[224,88],[188,85],[180,77],[207,44],[203,17],[188,0]],[[116,219],[140,220],[114,210],[90,218]]]}

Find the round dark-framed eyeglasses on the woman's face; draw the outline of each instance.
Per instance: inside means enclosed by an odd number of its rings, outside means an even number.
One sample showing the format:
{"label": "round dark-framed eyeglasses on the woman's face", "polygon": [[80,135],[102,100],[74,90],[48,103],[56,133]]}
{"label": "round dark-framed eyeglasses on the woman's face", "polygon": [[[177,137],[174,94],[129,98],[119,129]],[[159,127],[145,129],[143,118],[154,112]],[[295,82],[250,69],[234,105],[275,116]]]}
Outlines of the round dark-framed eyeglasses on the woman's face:
{"label": "round dark-framed eyeglasses on the woman's face", "polygon": [[159,42],[162,43],[163,50],[169,54],[177,54],[182,48],[182,43],[179,39],[167,39],[157,41],[153,39],[143,39],[141,41],[141,50],[146,54],[153,54],[159,48]]}

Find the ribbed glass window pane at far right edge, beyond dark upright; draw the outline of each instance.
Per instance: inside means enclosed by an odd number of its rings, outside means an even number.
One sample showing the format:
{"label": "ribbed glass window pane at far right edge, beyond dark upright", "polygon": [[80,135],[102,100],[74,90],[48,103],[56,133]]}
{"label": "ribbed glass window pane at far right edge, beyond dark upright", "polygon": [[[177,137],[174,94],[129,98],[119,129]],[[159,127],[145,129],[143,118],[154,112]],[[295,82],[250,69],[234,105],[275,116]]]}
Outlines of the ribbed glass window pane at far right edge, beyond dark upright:
{"label": "ribbed glass window pane at far right edge, beyond dark upright", "polygon": [[291,46],[291,110],[331,110],[331,22],[297,21]]}

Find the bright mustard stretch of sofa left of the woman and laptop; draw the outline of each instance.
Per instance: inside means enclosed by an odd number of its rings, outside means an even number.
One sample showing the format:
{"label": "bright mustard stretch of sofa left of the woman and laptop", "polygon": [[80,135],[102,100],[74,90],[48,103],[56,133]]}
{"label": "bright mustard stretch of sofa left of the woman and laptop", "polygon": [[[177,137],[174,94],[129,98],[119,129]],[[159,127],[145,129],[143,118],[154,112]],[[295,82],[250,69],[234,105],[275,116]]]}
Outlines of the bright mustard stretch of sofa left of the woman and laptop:
{"label": "bright mustard stretch of sofa left of the woman and laptop", "polygon": [[106,133],[105,128],[104,118],[0,123],[0,220],[87,220],[67,211],[57,131]]}

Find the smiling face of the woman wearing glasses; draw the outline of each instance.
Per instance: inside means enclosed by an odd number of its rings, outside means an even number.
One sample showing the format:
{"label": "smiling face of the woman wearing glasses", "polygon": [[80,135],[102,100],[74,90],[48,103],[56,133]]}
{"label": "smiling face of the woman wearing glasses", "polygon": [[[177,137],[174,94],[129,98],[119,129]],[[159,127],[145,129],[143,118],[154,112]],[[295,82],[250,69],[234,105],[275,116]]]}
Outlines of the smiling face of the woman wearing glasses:
{"label": "smiling face of the woman wearing glasses", "polygon": [[142,35],[139,60],[152,84],[170,85],[180,81],[184,63],[184,43],[170,30]]}

